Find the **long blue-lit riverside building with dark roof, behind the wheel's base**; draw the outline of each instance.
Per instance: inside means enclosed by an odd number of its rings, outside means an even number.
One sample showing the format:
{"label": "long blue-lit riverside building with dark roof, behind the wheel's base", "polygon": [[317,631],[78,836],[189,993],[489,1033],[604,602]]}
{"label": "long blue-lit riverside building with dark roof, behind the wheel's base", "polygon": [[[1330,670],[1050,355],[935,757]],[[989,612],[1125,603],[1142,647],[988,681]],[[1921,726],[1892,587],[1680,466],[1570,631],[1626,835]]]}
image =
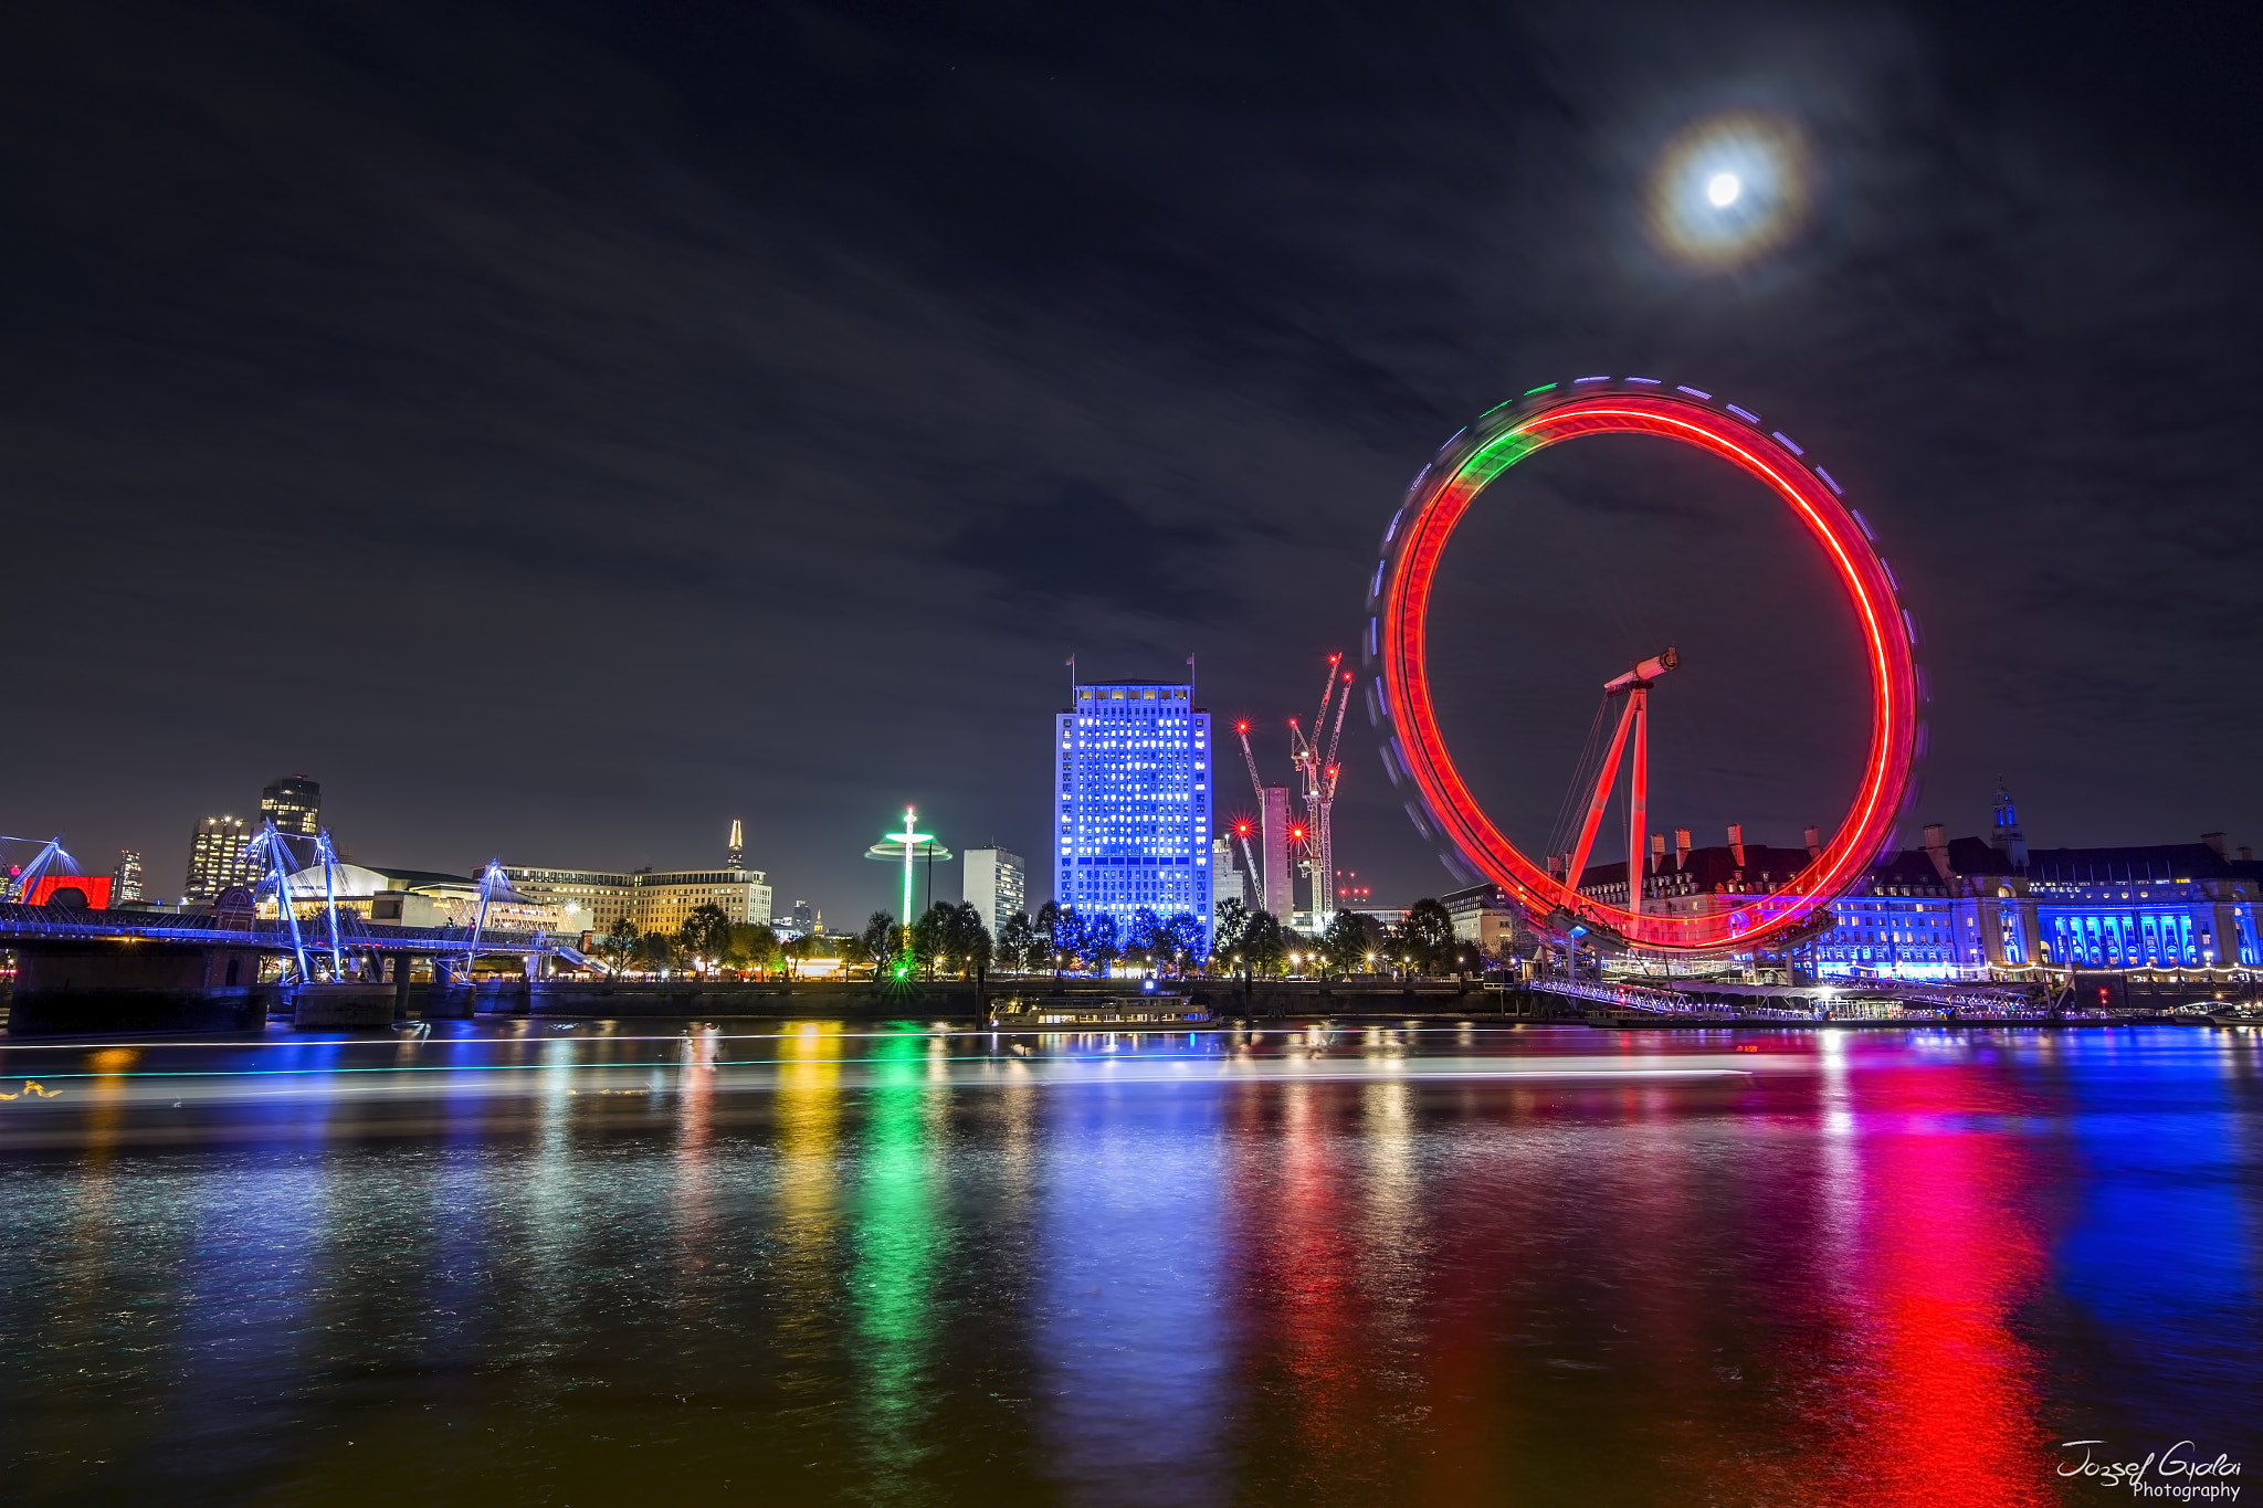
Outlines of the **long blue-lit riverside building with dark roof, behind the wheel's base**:
{"label": "long blue-lit riverside building with dark roof, behind the wheel's base", "polygon": [[[1688,832],[1652,839],[1645,898],[1657,911],[1747,904],[1797,875],[1815,852],[1729,843],[1690,848]],[[1627,866],[1589,870],[1580,886],[1625,904]],[[2107,970],[2139,983],[2247,981],[2263,970],[2256,907],[2263,864],[2225,834],[2150,848],[2037,848],[1998,791],[1989,839],[1948,839],[1885,857],[1831,902],[1833,927],[1781,954],[1815,979],[2019,979],[2039,970]],[[1752,956],[1743,959],[1754,963]],[[2159,979],[2157,979],[2159,974]]]}

